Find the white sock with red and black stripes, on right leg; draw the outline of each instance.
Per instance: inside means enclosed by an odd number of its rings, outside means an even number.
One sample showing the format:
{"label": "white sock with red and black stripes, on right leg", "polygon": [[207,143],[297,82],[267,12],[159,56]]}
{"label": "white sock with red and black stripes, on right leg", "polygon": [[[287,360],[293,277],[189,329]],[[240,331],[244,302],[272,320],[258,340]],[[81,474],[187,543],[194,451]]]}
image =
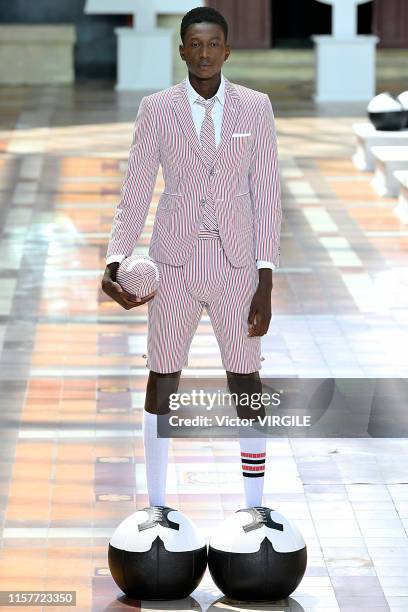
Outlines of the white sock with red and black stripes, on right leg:
{"label": "white sock with red and black stripes, on right leg", "polygon": [[266,438],[241,438],[242,478],[247,508],[262,506],[265,482]]}

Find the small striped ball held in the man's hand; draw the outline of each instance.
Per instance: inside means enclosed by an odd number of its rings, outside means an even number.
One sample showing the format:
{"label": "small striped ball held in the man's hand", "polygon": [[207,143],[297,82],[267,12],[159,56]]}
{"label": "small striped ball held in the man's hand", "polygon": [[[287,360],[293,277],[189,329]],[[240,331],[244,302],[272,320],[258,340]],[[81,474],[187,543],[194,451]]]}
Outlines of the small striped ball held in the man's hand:
{"label": "small striped ball held in the man's hand", "polygon": [[160,271],[148,255],[131,255],[121,262],[116,279],[125,291],[144,298],[157,290]]}

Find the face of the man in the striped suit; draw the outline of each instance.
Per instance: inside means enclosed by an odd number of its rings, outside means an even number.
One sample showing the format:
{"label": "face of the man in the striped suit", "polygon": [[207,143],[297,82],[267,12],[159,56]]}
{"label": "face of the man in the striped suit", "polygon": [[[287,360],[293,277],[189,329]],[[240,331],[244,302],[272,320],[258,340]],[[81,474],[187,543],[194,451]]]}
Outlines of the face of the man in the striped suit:
{"label": "face of the man in the striped suit", "polygon": [[184,44],[179,49],[189,72],[203,80],[218,74],[230,54],[224,31],[216,23],[190,25],[184,35]]}

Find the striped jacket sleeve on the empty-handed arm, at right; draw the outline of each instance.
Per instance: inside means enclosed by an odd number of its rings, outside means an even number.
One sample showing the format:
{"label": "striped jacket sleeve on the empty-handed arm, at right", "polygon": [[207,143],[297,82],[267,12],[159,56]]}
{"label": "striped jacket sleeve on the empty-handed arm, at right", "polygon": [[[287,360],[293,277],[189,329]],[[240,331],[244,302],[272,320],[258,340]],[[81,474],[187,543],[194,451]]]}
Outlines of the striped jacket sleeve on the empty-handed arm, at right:
{"label": "striped jacket sleeve on the empty-handed arm, at right", "polygon": [[255,258],[277,267],[282,206],[275,119],[267,95],[251,153],[249,188],[255,215]]}

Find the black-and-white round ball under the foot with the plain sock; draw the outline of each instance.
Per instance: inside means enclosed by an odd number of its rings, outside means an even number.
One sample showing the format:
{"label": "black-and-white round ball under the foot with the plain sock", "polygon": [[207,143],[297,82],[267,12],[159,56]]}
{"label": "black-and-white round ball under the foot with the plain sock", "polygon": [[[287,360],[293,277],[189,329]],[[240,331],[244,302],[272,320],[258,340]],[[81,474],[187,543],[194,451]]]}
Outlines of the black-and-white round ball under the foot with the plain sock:
{"label": "black-and-white round ball under the foot with the plain sock", "polygon": [[109,542],[109,569],[135,599],[183,599],[200,583],[207,547],[194,523],[167,506],[143,508],[125,518]]}

